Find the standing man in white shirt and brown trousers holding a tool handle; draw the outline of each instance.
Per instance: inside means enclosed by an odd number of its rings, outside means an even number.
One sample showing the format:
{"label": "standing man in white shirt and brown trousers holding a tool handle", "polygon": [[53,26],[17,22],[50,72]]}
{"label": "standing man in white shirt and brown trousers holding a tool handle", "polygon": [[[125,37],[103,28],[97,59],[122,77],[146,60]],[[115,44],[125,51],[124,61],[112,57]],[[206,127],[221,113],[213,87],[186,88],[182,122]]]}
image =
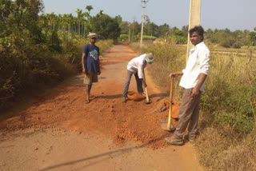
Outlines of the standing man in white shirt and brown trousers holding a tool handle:
{"label": "standing man in white shirt and brown trousers holding a tool handle", "polygon": [[172,137],[166,137],[166,142],[171,145],[183,145],[183,136],[188,124],[186,139],[194,143],[198,131],[198,116],[200,95],[204,90],[206,76],[210,68],[210,50],[203,42],[204,30],[202,26],[190,29],[190,41],[194,48],[190,50],[186,69],[170,74],[170,77],[182,75],[179,85],[184,89],[182,103],[179,108],[179,120]]}

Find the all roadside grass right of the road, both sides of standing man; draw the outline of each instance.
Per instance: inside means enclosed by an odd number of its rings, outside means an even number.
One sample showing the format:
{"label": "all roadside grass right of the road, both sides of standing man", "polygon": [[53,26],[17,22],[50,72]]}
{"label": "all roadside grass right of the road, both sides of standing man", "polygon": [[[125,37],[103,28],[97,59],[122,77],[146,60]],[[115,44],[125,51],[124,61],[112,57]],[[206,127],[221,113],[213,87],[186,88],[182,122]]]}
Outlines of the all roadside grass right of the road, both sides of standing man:
{"label": "all roadside grass right of the road, both sides of standing man", "polygon": [[[156,84],[170,86],[168,74],[186,66],[186,48],[179,47],[174,43],[143,46],[143,52],[154,53],[154,64],[148,70]],[[195,147],[200,163],[209,170],[255,170],[255,52],[225,50],[228,55],[211,55]],[[174,89],[181,90],[176,81]]]}

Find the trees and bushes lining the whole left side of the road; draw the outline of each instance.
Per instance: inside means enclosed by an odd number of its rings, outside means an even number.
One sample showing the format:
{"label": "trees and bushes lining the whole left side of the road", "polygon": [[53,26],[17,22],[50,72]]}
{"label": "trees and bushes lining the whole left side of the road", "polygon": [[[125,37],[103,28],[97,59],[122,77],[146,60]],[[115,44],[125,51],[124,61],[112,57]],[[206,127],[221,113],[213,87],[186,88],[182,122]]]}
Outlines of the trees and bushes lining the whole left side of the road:
{"label": "trees and bushes lining the whole left side of the road", "polygon": [[[0,1],[0,109],[28,89],[61,82],[81,70],[82,46],[94,30],[104,52],[120,33],[118,19],[100,11],[40,14],[41,0]],[[102,27],[103,26],[103,27]],[[110,41],[112,40],[112,41]]]}

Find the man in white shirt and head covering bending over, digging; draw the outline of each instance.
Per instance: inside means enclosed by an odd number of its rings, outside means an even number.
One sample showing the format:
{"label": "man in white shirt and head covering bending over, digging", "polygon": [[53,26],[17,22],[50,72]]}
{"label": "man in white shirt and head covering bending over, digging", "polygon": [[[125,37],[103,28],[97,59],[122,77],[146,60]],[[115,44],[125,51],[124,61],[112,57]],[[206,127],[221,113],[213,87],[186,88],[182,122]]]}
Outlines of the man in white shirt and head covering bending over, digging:
{"label": "man in white shirt and head covering bending over, digging", "polygon": [[127,76],[126,83],[124,85],[123,93],[122,93],[122,101],[126,102],[127,93],[130,85],[130,78],[134,74],[137,83],[138,93],[143,93],[142,85],[144,88],[146,87],[146,82],[144,78],[144,68],[146,68],[146,64],[151,64],[154,61],[153,54],[142,54],[137,58],[133,58],[127,65]]}

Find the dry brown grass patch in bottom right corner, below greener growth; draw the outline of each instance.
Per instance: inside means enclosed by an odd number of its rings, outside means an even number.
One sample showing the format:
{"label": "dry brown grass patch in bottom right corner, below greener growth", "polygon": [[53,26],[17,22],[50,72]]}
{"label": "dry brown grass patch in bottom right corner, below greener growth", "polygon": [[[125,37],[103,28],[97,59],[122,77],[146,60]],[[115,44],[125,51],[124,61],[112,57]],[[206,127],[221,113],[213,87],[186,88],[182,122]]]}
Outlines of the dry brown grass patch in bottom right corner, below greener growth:
{"label": "dry brown grass patch in bottom right corner, below greener growth", "polygon": [[255,138],[255,133],[237,133],[229,127],[208,127],[196,141],[199,161],[208,170],[255,170]]}

